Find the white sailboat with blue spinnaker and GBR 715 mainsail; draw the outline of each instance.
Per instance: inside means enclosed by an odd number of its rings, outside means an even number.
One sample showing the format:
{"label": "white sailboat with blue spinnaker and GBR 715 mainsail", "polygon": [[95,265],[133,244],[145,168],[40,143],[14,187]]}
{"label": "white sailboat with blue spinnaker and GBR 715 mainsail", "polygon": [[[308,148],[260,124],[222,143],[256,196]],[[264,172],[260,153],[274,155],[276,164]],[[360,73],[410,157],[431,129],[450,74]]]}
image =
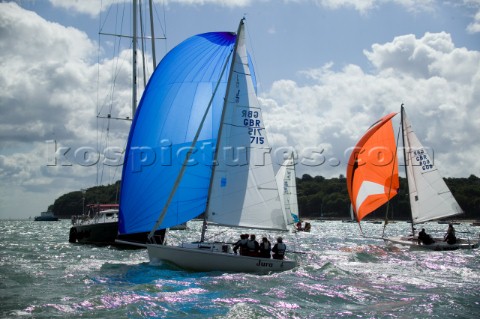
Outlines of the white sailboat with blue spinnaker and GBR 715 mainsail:
{"label": "white sailboat with blue spinnaker and GBR 715 mainsail", "polygon": [[[242,19],[237,33],[204,33],[179,44],[140,102],[125,155],[120,230],[143,231],[156,221],[146,243],[152,262],[260,273],[296,266],[206,240],[207,225],[287,231],[244,28]],[[156,241],[157,229],[202,214],[198,242]]]}

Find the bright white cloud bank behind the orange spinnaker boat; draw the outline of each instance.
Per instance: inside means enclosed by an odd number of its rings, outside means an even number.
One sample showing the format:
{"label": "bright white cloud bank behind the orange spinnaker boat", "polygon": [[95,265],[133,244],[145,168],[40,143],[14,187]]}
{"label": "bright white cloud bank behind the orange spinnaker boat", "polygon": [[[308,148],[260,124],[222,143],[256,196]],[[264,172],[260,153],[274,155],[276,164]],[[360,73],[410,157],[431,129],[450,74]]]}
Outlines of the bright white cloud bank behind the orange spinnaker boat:
{"label": "bright white cloud bank behind the orange spinnaker boat", "polygon": [[451,36],[440,32],[400,36],[374,44],[365,55],[373,72],[356,65],[335,72],[327,64],[304,72],[308,85],[273,84],[263,103],[274,147],[295,145],[301,157],[315,148],[326,162],[300,165],[300,170],[326,177],[344,174],[346,151],[373,122],[405,103],[445,175],[480,171],[475,155],[480,153],[480,53],[456,48]]}

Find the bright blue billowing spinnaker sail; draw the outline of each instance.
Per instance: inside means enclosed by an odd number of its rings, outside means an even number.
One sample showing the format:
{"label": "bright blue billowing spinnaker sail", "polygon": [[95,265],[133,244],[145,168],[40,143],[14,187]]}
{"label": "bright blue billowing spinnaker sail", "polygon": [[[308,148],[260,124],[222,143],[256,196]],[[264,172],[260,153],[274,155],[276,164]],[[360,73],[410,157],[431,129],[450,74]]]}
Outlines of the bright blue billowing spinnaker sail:
{"label": "bright blue billowing spinnaker sail", "polygon": [[150,78],[125,152],[120,234],[152,229],[220,81],[193,156],[159,228],[184,223],[205,211],[234,43],[235,34],[229,32],[188,38],[162,59]]}

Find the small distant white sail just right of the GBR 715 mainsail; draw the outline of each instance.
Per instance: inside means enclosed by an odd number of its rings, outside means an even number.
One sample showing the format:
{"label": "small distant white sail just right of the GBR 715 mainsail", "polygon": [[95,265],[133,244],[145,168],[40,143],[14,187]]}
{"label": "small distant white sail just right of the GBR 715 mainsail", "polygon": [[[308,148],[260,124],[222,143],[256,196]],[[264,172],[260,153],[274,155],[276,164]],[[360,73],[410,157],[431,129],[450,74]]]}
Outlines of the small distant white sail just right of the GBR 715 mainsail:
{"label": "small distant white sail just right of the GBR 715 mainsail", "polygon": [[293,224],[300,221],[293,153],[283,162],[275,177],[277,179],[280,200],[285,208],[287,223]]}

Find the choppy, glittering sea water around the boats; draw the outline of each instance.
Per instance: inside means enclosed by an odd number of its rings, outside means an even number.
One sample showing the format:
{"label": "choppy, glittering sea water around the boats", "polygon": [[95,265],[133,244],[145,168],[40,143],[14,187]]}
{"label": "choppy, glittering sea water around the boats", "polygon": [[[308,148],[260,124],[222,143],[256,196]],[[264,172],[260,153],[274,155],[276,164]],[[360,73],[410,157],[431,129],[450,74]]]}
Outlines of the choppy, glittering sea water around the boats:
{"label": "choppy, glittering sea water around the boats", "polygon": [[[290,254],[300,258],[293,271],[193,273],[150,265],[146,250],[70,244],[69,227],[69,221],[0,221],[0,317],[478,318],[480,313],[479,249],[388,248],[360,237],[356,224],[313,222],[311,233],[284,236],[290,249],[304,252]],[[172,232],[171,242],[198,240],[200,224],[189,227]],[[382,227],[363,224],[372,235]],[[409,225],[389,229],[401,234]],[[480,228],[471,230],[478,236]],[[227,231],[215,239],[236,237]]]}

